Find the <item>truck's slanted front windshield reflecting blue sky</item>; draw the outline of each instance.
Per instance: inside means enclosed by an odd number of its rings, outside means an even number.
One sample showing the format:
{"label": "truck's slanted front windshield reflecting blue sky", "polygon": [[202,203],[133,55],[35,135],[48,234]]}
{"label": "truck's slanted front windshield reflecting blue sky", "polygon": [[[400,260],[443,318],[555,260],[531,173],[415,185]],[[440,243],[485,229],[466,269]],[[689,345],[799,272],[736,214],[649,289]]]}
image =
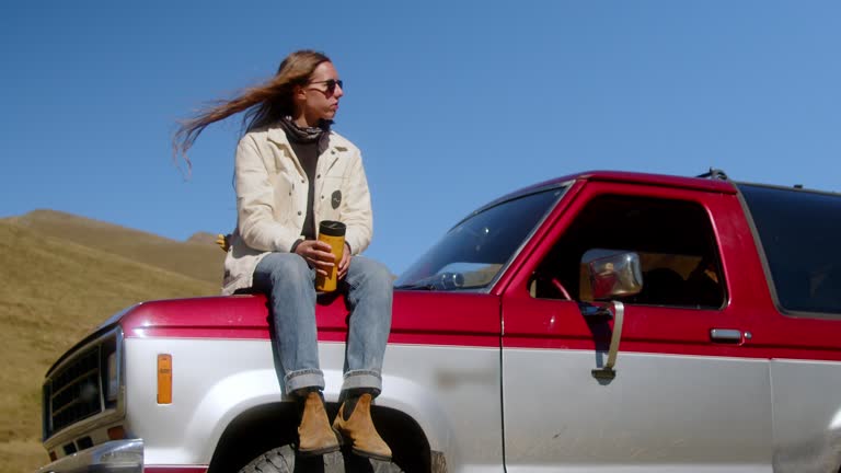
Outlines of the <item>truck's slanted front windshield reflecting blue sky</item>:
{"label": "truck's slanted front windshield reflecting blue sky", "polygon": [[453,227],[398,280],[398,289],[487,287],[552,209],[553,187],[480,209]]}

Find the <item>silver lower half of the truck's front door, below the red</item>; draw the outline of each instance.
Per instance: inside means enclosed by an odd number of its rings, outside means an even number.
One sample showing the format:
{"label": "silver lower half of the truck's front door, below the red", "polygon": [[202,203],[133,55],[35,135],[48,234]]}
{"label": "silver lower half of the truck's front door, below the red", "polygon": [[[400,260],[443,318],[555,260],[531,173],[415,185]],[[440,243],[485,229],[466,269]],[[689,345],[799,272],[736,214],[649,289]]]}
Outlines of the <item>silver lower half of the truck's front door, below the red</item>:
{"label": "silver lower half of the truck's front door, below the red", "polygon": [[[617,378],[601,384],[590,374],[594,355],[506,350],[509,472],[620,471],[620,465],[770,471],[763,361],[620,354]],[[535,367],[545,368],[534,376]]]}

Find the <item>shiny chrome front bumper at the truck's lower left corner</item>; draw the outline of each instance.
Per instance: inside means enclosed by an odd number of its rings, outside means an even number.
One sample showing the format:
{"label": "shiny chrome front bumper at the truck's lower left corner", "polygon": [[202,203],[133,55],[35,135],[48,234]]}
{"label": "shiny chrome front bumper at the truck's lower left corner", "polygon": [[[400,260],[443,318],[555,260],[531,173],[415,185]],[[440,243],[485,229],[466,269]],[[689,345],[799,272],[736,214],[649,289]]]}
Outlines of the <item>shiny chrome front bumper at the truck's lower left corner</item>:
{"label": "shiny chrome front bumper at the truck's lower left corner", "polygon": [[73,453],[39,468],[37,473],[142,473],[143,440],[115,440]]}

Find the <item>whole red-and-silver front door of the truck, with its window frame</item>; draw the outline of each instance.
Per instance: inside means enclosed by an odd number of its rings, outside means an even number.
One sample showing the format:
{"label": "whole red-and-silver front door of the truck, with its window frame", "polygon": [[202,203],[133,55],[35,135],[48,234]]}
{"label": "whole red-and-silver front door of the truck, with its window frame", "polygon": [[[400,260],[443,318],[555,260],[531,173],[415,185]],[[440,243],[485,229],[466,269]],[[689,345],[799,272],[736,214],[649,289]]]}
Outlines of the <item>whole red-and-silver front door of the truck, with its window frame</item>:
{"label": "whole red-and-silver front door of the truck, with its window frame", "polygon": [[[604,195],[619,196],[618,204],[587,216],[588,204]],[[636,211],[635,198],[656,200],[653,207],[663,199],[666,214]],[[691,205],[682,212],[669,210],[668,201],[678,210],[680,203]],[[567,204],[548,219],[549,238],[503,291],[507,471],[772,471],[769,356],[752,341],[756,289],[738,276],[746,270],[745,241],[738,223],[710,218],[738,210],[735,196],[588,183]],[[623,207],[621,215],[610,214],[615,207]],[[688,226],[691,218],[704,219],[700,230]],[[578,274],[588,245],[679,256],[673,261],[696,255],[715,273],[716,302],[706,298],[690,307],[686,291],[658,300],[672,293],[654,286],[619,299],[625,313],[615,378],[596,379],[591,371],[607,359],[613,324],[606,315],[583,314],[588,290]],[[648,258],[652,268],[655,259]],[[564,290],[556,299],[534,290],[546,262],[558,265],[556,282]],[[689,284],[689,273],[700,274],[704,265],[684,270],[678,282]],[[644,280],[656,285],[654,274],[644,273]],[[742,336],[716,339],[713,330]]]}

